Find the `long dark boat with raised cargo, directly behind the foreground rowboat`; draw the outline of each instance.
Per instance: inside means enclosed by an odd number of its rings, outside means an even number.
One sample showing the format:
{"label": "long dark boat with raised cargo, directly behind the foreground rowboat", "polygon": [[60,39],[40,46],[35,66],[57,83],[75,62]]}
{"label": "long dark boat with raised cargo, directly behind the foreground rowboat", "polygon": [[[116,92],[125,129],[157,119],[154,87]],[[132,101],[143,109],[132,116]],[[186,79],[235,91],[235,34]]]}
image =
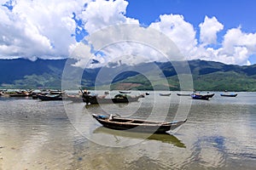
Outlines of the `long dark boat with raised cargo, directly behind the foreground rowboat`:
{"label": "long dark boat with raised cargo, directly behind the foreground rowboat", "polygon": [[83,101],[86,105],[94,105],[94,104],[117,104],[117,103],[130,103],[135,102],[139,98],[142,98],[141,95],[131,97],[124,94],[117,94],[114,98],[105,98],[106,96],[97,96],[90,94],[83,94]]}

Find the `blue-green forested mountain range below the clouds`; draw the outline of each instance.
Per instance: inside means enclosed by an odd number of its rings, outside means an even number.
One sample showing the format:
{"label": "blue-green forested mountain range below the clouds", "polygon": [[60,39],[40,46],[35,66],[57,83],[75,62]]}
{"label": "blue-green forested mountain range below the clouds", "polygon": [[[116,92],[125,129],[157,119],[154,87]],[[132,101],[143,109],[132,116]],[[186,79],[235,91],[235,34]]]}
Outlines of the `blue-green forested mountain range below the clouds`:
{"label": "blue-green forested mountain range below the clouds", "polygon": [[[0,59],[0,88],[61,88],[61,77],[67,59]],[[256,65],[225,65],[223,63],[190,60],[194,88],[207,91],[256,91]],[[152,64],[152,63],[151,63]],[[132,68],[149,68],[148,63],[130,66]],[[112,88],[131,87],[132,89],[179,90],[177,73],[170,63],[155,62],[163,71],[169,84],[148,82],[147,77],[136,71],[125,71],[114,77]],[[122,65],[121,65],[122,66]],[[119,67],[121,67],[119,66]],[[122,68],[119,68],[122,69]],[[82,86],[94,87],[101,68],[85,69]],[[137,69],[134,69],[137,70]],[[151,72],[150,72],[151,71]],[[153,74],[154,69],[148,69]],[[132,83],[136,84],[132,86]],[[104,82],[102,82],[102,87]]]}

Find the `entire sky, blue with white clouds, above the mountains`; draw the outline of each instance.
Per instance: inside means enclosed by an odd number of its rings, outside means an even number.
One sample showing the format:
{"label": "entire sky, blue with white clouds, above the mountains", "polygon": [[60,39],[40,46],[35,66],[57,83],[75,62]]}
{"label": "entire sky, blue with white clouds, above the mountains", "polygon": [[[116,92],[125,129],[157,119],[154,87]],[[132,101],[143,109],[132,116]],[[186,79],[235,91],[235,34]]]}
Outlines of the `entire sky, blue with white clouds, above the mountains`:
{"label": "entire sky, blue with white clouds, above the mountains", "polygon": [[[124,56],[131,55],[128,60],[137,64],[145,61],[139,57],[144,55],[148,62],[164,61],[145,45],[149,37],[140,44],[115,42],[100,51],[96,48],[95,42],[113,42],[120,36],[136,39],[142,37],[137,29],[151,29],[169,37],[185,59],[256,64],[253,0],[0,0],[0,4],[0,59],[71,57],[84,65],[83,57],[90,56],[94,65],[100,65],[129,62]],[[97,35],[122,24],[135,29],[122,31],[125,36]],[[73,56],[81,42],[86,46],[84,56]]]}

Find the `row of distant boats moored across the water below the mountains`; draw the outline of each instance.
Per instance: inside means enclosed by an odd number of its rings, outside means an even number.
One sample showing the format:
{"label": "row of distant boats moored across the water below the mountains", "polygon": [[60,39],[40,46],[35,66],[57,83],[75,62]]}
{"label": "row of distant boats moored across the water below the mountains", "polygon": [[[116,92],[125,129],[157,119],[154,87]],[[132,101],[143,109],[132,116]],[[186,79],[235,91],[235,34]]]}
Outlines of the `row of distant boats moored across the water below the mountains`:
{"label": "row of distant boats moored across the water below the mountains", "polygon": [[[116,94],[113,98],[106,98],[109,94],[108,91],[104,93],[104,95],[97,95],[88,92],[87,90],[80,90],[79,94],[66,94],[64,91],[61,90],[33,90],[33,91],[15,91],[15,92],[4,92],[0,91],[1,95],[8,95],[9,97],[29,97],[31,96],[32,99],[41,99],[43,101],[49,100],[72,100],[73,102],[80,102],[84,101],[87,105],[93,104],[105,104],[105,103],[128,103],[137,101],[140,98],[144,98],[145,95],[149,95],[148,92],[145,94],[140,94],[137,96],[131,96],[131,91],[119,91],[119,94]],[[171,93],[167,94],[160,94],[160,96],[170,96]],[[178,96],[191,96],[192,99],[204,99],[208,100],[214,96],[214,94],[201,94],[201,93],[192,93],[192,94],[177,94]],[[236,97],[237,94],[235,93],[228,93],[224,92],[220,94],[223,97]]]}

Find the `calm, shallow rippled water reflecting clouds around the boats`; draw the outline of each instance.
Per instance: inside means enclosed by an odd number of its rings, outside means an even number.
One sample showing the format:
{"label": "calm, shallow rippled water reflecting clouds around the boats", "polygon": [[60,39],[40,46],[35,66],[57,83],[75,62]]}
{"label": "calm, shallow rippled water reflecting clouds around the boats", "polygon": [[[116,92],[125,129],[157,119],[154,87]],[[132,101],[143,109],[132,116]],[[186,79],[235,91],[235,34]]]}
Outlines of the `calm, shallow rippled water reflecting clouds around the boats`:
{"label": "calm, shallow rippled water reflecting clouds around the boats", "polygon": [[[0,169],[255,169],[256,93],[209,101],[159,93],[86,107],[0,97]],[[150,136],[102,128],[91,113],[188,121],[172,135]]]}

